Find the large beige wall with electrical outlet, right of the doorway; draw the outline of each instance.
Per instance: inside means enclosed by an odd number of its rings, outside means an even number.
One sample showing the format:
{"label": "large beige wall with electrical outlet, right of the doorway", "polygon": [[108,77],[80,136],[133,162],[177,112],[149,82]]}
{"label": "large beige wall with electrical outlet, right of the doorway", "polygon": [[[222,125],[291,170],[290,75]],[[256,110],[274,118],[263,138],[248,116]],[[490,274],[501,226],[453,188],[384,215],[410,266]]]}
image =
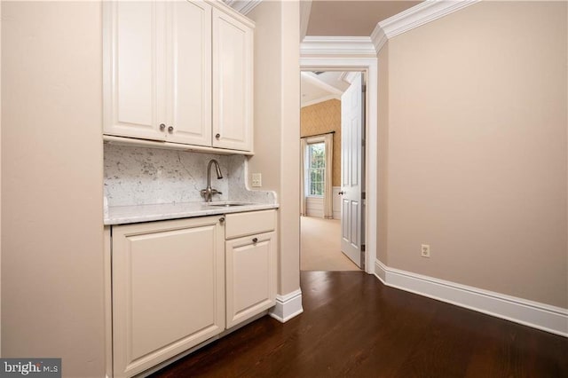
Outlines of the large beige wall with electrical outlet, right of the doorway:
{"label": "large beige wall with electrical outlet, right of the doorway", "polygon": [[566,14],[482,2],[390,39],[390,267],[568,307]]}

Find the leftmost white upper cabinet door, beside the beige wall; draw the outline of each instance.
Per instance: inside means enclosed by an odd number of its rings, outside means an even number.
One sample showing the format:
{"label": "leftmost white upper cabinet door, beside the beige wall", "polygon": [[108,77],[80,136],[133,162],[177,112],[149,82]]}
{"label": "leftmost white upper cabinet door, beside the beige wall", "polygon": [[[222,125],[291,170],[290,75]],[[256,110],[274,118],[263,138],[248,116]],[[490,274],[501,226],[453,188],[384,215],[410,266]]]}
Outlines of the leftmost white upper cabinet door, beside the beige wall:
{"label": "leftmost white upper cabinet door, beside the beige wall", "polygon": [[104,2],[104,132],[163,140],[164,4]]}

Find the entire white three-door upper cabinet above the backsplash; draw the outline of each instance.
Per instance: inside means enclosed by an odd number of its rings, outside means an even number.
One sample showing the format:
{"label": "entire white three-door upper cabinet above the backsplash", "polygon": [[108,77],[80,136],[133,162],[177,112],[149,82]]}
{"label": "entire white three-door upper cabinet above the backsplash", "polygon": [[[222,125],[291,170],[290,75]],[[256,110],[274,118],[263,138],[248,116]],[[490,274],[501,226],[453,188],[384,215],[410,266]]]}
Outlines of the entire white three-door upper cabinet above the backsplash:
{"label": "entire white three-door upper cabinet above the backsplash", "polygon": [[251,21],[214,1],[103,7],[106,135],[252,151]]}

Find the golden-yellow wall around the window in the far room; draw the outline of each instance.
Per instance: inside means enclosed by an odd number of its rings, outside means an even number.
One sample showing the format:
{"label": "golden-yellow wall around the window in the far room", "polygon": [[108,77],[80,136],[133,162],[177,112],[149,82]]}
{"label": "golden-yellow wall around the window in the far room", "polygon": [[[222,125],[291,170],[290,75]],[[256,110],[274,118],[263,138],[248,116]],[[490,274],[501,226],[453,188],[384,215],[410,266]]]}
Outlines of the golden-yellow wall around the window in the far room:
{"label": "golden-yellow wall around the window in the far room", "polygon": [[341,101],[329,99],[304,106],[300,111],[300,124],[300,137],[335,131],[332,185],[341,186]]}

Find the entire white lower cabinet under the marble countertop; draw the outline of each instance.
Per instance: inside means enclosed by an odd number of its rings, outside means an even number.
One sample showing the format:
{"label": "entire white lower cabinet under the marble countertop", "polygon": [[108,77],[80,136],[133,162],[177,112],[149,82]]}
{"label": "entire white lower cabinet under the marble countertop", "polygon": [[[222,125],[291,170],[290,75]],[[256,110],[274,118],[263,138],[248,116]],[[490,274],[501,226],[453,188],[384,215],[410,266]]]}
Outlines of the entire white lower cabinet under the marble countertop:
{"label": "entire white lower cabinet under the marble countertop", "polygon": [[276,210],[112,226],[113,376],[143,373],[271,308],[275,230]]}

